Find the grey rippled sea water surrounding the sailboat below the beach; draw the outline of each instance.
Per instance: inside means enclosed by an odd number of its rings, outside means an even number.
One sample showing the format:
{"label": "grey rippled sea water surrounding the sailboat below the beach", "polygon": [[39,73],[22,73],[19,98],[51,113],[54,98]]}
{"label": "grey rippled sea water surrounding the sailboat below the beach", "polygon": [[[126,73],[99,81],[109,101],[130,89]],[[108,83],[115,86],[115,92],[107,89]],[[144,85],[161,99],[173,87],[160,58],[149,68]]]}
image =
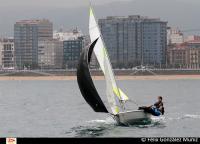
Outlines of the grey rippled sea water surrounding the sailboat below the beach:
{"label": "grey rippled sea water surrounding the sailboat below the beach", "polygon": [[[95,81],[108,106],[105,82]],[[1,137],[184,137],[200,134],[199,80],[124,80],[118,85],[138,105],[163,96],[165,115],[150,123],[118,126],[95,113],[76,81],[0,81]],[[137,109],[128,102],[127,109]]]}

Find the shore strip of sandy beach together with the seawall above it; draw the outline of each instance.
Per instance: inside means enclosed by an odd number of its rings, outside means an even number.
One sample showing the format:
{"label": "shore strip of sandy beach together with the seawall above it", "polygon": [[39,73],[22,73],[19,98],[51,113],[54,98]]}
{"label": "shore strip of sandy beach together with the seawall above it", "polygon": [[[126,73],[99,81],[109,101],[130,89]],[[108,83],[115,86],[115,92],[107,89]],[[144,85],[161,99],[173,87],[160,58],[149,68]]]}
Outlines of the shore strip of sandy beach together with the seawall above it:
{"label": "shore strip of sandy beach together with the seawall above it", "polygon": [[[200,69],[152,69],[151,72],[136,70],[114,70],[114,72],[117,80],[200,80]],[[104,80],[104,76],[100,70],[91,70],[91,75],[93,76],[94,80]],[[0,71],[0,80],[76,80],[76,70]]]}

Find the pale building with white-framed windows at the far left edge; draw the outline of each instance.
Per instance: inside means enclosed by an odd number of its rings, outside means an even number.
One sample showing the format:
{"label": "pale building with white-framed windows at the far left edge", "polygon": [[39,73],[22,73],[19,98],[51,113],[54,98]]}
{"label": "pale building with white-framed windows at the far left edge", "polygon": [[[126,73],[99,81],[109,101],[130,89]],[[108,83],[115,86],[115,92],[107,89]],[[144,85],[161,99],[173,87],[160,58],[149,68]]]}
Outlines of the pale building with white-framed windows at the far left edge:
{"label": "pale building with white-framed windows at the far left edge", "polygon": [[14,40],[0,39],[0,68],[14,69]]}

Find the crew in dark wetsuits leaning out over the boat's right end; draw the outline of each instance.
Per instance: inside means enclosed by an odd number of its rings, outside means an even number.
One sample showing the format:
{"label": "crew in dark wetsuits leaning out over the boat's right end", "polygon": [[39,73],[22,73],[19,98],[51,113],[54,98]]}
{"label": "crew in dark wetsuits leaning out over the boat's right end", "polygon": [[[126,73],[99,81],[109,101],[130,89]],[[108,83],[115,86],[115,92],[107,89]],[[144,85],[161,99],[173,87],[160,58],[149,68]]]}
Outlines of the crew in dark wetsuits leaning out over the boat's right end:
{"label": "crew in dark wetsuits leaning out over the boat's right end", "polygon": [[151,106],[139,107],[139,110],[144,110],[145,112],[151,113],[154,116],[164,115],[164,105],[162,96],[158,96],[158,101]]}

